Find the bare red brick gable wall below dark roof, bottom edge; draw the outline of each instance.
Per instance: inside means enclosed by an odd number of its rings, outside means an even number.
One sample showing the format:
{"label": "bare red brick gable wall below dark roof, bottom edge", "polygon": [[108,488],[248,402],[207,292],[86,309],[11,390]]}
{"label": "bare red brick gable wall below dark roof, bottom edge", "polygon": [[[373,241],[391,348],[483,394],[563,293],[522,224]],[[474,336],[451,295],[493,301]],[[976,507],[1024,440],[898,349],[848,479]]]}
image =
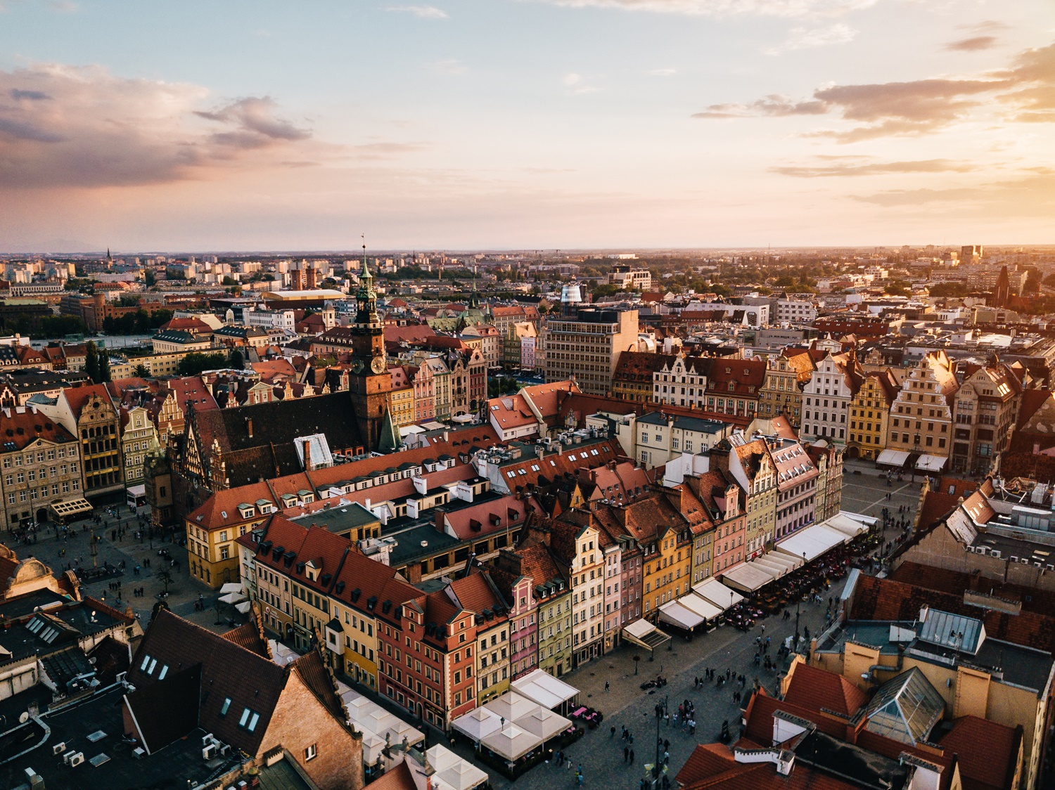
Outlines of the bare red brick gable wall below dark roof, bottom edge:
{"label": "bare red brick gable wall below dark roof, bottom edge", "polygon": [[[305,762],[304,751],[312,744],[318,756]],[[256,756],[279,746],[293,755],[320,790],[362,789],[362,735],[354,737],[342,727],[296,673],[290,673]]]}

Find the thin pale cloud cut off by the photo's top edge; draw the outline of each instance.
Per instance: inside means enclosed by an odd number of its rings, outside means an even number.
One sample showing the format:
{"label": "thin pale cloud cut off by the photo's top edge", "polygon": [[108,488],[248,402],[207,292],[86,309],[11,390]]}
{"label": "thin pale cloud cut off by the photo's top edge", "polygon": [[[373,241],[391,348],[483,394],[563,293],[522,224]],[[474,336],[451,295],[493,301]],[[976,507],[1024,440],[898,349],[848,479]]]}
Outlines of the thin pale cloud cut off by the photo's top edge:
{"label": "thin pale cloud cut off by the photo's top edge", "polygon": [[683,14],[699,17],[738,15],[764,17],[833,17],[868,8],[878,0],[541,0],[572,8],[616,8],[628,12]]}

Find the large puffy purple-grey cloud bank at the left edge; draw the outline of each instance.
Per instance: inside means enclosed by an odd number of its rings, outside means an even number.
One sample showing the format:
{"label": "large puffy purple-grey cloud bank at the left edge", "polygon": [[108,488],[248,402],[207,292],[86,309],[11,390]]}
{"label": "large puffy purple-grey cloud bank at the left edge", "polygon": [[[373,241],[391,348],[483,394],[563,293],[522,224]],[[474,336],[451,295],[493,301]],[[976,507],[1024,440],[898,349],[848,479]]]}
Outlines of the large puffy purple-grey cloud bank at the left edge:
{"label": "large puffy purple-grey cloud bank at the left edge", "polygon": [[199,85],[124,79],[99,66],[0,71],[0,188],[184,180],[244,158],[266,165],[271,150],[288,159],[311,136],[281,118],[270,97],[203,109],[208,99]]}

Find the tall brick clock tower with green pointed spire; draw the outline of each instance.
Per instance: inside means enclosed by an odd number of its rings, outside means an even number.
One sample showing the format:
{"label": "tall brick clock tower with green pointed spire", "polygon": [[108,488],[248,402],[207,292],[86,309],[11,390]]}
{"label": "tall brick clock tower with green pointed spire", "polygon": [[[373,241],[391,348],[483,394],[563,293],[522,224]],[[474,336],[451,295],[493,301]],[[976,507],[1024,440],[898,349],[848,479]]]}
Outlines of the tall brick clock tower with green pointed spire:
{"label": "tall brick clock tower with green pointed spire", "polygon": [[373,275],[363,258],[363,273],[356,293],[356,323],[351,327],[351,370],[348,392],[359,431],[367,449],[378,449],[388,412],[391,374],[385,361],[385,330],[378,315]]}

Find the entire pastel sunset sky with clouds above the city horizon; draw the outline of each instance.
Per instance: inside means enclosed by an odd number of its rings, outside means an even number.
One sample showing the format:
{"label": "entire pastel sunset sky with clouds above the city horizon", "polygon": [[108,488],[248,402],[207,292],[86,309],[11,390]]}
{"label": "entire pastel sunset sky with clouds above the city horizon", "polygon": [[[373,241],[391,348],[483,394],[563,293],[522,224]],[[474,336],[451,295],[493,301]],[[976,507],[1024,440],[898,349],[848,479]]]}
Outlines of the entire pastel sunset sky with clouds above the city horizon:
{"label": "entire pastel sunset sky with clouds above the city horizon", "polygon": [[0,0],[0,252],[361,234],[1053,244],[1055,3]]}

